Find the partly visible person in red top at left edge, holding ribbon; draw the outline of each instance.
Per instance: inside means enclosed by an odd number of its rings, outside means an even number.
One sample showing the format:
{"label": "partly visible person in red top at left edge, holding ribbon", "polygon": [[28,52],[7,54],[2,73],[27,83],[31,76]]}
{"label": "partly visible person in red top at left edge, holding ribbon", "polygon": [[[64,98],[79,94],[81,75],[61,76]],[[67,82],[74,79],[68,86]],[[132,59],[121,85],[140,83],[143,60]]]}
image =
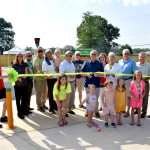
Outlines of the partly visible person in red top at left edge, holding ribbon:
{"label": "partly visible person in red top at left edge, holding ribbon", "polygon": [[[6,109],[7,109],[7,105],[6,105],[6,89],[4,87],[4,81],[3,78],[11,78],[12,75],[6,75],[6,76],[2,76],[2,69],[1,69],[1,65],[0,65],[0,99],[5,99],[4,103],[3,103],[3,111],[2,111],[2,117],[0,118],[1,122],[7,122],[7,116],[5,116],[6,114]],[[2,128],[2,125],[0,124],[0,128]]]}

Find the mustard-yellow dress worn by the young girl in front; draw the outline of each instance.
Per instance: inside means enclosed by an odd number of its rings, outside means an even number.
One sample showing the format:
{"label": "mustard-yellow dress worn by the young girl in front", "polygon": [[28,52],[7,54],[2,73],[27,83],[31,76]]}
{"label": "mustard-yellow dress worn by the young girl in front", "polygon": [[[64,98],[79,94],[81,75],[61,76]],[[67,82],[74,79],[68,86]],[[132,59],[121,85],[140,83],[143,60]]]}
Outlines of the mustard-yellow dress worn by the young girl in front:
{"label": "mustard-yellow dress worn by the young girl in front", "polygon": [[126,110],[126,91],[122,92],[122,88],[118,88],[118,90],[115,91],[116,93],[116,106],[115,111],[121,112]]}

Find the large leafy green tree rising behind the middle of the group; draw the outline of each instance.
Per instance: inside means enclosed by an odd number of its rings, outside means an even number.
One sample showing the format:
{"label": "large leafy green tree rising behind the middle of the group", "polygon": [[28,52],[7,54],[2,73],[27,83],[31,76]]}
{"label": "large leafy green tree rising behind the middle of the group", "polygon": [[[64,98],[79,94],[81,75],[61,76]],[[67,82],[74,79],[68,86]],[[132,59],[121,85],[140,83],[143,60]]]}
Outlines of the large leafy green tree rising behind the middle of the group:
{"label": "large leafy green tree rising behind the middle of the group", "polygon": [[77,45],[79,48],[92,48],[108,53],[112,47],[117,46],[113,40],[117,39],[119,28],[109,24],[108,21],[91,12],[83,13],[83,20],[77,27]]}

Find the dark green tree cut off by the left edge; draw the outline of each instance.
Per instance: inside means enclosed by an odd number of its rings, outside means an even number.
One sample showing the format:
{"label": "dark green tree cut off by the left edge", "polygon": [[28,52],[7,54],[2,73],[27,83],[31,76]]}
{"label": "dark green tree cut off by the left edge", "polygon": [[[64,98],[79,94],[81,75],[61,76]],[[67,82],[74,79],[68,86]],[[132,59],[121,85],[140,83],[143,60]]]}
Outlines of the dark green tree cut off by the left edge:
{"label": "dark green tree cut off by the left edge", "polygon": [[14,47],[14,35],[15,32],[12,30],[10,22],[6,22],[5,19],[0,18],[0,50],[8,51]]}

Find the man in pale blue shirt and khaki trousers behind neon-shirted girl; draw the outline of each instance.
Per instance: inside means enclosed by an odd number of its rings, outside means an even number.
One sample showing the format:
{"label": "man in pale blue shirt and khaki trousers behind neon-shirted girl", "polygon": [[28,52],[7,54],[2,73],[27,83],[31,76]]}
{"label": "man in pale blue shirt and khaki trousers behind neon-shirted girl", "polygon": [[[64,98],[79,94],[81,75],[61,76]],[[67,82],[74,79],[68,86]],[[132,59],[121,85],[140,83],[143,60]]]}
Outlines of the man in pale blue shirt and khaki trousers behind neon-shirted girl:
{"label": "man in pale blue shirt and khaki trousers behind neon-shirted girl", "polygon": [[[71,51],[67,51],[65,53],[65,59],[59,66],[60,73],[75,73],[75,66],[72,63],[72,55],[73,54]],[[71,84],[71,91],[72,91],[69,96],[68,113],[74,115],[75,112],[72,111],[72,109],[73,109],[74,97],[75,97],[75,87],[74,87],[75,75],[67,75],[67,77],[68,77],[68,82],[70,82]],[[68,116],[68,114],[66,114],[66,116]]]}

